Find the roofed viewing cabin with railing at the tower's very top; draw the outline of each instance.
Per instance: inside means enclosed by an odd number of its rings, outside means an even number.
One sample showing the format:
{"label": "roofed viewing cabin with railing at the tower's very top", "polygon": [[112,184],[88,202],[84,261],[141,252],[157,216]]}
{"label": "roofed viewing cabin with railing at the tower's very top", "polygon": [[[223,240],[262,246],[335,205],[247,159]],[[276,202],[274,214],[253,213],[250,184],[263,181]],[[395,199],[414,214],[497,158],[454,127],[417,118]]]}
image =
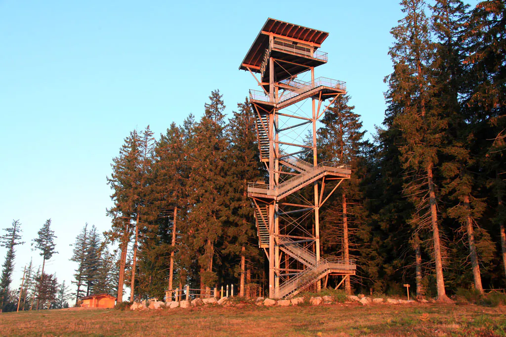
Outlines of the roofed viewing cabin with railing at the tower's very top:
{"label": "roofed viewing cabin with railing at the tower's very top", "polygon": [[328,33],[321,30],[269,18],[239,69],[260,73],[262,82],[268,82],[267,63],[273,57],[277,63],[274,66],[276,81],[292,77],[327,62],[327,53],[318,51],[327,36]]}

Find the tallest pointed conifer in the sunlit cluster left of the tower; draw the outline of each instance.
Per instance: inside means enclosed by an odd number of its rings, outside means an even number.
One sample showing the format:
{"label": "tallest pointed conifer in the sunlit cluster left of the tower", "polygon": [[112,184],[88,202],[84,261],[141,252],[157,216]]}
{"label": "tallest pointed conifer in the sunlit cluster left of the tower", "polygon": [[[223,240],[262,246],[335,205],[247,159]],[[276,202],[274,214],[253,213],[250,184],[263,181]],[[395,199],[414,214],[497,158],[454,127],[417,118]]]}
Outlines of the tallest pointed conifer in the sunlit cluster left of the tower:
{"label": "tallest pointed conifer in the sunlit cluster left of the tower", "polygon": [[191,247],[199,252],[201,288],[216,284],[213,271],[215,244],[223,234],[224,163],[227,148],[225,137],[225,104],[215,90],[205,104],[204,116],[195,127],[195,148],[190,154],[188,225]]}

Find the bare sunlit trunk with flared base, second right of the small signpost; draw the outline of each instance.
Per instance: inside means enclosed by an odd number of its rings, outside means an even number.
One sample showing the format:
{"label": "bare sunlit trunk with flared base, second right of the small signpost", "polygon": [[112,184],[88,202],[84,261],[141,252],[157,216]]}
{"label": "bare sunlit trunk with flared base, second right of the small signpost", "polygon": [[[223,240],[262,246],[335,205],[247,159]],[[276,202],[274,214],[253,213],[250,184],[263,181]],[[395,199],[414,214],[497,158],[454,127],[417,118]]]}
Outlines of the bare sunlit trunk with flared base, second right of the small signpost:
{"label": "bare sunlit trunk with flared base, second right of the small signpost", "polygon": [[436,262],[436,286],[438,291],[438,301],[451,302],[446,296],[443,278],[443,259],[441,257],[441,242],[439,238],[438,213],[436,208],[436,192],[434,190],[434,181],[432,173],[432,163],[427,165],[427,178],[429,183],[429,203],[431,210],[432,237],[434,240],[434,260]]}

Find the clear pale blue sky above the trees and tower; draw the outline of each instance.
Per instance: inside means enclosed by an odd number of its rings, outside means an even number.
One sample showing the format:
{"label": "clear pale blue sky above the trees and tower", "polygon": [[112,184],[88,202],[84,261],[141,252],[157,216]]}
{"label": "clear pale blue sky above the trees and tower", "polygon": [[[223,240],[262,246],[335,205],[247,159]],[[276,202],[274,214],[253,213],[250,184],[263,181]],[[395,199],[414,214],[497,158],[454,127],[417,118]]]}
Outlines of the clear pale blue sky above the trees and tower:
{"label": "clear pale blue sky above the trees and tower", "polygon": [[347,81],[367,130],[383,121],[397,1],[170,3],[0,0],[0,228],[19,219],[26,242],[14,286],[42,262],[30,242],[49,218],[46,270],[70,283],[69,244],[86,222],[109,228],[106,176],[129,131],[199,118],[216,88],[230,114],[256,89],[238,66],[268,17],[329,32],[316,76]]}

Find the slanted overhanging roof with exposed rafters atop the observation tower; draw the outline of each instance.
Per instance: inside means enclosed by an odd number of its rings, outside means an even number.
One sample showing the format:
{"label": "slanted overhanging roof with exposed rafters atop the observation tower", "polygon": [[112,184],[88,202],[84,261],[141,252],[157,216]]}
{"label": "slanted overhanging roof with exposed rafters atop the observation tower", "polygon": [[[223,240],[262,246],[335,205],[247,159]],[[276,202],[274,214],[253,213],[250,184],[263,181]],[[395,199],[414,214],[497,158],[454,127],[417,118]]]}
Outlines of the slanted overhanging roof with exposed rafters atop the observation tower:
{"label": "slanted overhanging roof with exposed rafters atop the observation tower", "polygon": [[246,67],[249,67],[253,72],[260,72],[263,53],[269,46],[270,34],[280,38],[287,38],[294,42],[300,41],[310,44],[314,46],[315,50],[328,36],[327,32],[321,30],[269,18],[253,44],[251,44],[251,47],[249,47],[248,53],[239,66],[240,70],[247,70]]}

